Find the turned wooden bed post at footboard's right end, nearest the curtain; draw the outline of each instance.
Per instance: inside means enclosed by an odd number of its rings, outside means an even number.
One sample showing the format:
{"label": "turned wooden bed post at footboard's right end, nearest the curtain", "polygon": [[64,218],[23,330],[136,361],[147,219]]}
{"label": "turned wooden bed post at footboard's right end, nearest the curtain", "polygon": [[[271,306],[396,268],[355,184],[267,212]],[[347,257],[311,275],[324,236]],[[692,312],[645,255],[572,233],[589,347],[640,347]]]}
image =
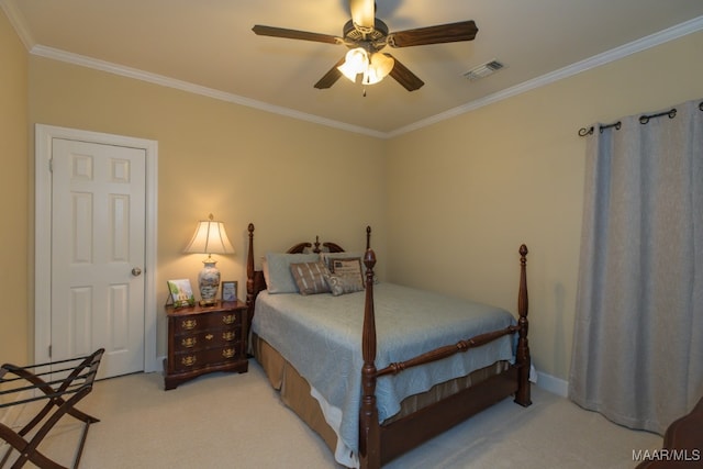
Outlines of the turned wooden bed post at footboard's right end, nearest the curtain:
{"label": "turned wooden bed post at footboard's right end, nearest the curtain", "polygon": [[515,402],[520,405],[527,406],[532,404],[529,397],[529,369],[532,368],[532,359],[529,357],[529,344],[527,340],[527,331],[529,323],[527,322],[527,246],[520,246],[520,292],[517,293],[517,313],[520,319],[517,325],[517,351],[515,361],[517,365],[517,392],[515,393]]}

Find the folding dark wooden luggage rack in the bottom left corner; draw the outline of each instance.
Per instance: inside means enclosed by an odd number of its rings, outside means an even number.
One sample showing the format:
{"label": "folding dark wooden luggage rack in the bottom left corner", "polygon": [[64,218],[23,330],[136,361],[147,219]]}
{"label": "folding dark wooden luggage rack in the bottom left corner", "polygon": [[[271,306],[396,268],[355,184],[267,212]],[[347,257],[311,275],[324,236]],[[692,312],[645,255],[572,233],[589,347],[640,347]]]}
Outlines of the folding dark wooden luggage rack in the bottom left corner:
{"label": "folding dark wooden luggage rack in the bottom left corner", "polygon": [[[0,459],[0,468],[4,467],[12,454],[12,449],[15,449],[20,455],[12,465],[12,469],[19,469],[27,461],[42,469],[67,469],[37,449],[42,439],[65,414],[83,422],[83,431],[76,450],[72,468],[78,467],[88,428],[90,424],[100,421],[77,410],[76,404],[92,391],[92,383],[98,373],[104,349],[100,348],[87,357],[25,367],[10,364],[0,367],[0,409],[34,401],[47,401],[34,418],[18,432],[0,423],[0,443],[4,440],[10,445],[2,459]],[[40,371],[42,369],[47,369],[48,371]],[[60,379],[51,378],[57,375],[63,376],[63,373],[68,375],[66,378]],[[49,377],[48,381],[43,378],[46,376]],[[8,397],[11,402],[2,403]],[[44,423],[30,438],[30,432],[42,422]]]}

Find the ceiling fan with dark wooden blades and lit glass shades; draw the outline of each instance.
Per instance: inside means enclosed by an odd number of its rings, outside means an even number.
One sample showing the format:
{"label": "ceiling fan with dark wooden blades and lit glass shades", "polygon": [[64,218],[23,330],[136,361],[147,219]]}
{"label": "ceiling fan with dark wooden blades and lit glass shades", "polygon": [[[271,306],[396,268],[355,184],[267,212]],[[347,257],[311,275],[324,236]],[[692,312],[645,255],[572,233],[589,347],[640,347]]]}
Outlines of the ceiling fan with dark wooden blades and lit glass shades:
{"label": "ceiling fan with dark wooden blades and lit glass shades", "polygon": [[349,48],[345,57],[335,64],[315,83],[315,88],[332,87],[342,75],[352,81],[361,77],[364,85],[373,85],[390,75],[408,91],[420,89],[424,83],[392,55],[381,52],[386,46],[411,47],[426,44],[443,44],[472,41],[479,31],[471,20],[415,30],[389,32],[388,26],[376,18],[373,0],[349,0],[352,20],[343,27],[342,37],[306,31],[256,24],[252,31],[263,36],[341,44]]}

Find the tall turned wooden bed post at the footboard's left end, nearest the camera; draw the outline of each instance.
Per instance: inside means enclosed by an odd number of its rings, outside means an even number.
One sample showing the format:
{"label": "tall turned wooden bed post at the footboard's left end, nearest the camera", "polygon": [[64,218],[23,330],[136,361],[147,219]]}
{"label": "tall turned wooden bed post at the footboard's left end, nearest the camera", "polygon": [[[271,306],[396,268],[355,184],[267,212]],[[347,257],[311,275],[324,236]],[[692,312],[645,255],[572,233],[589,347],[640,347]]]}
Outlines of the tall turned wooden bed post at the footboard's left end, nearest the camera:
{"label": "tall turned wooden bed post at the footboard's left end, nearest the camera", "polygon": [[[370,227],[366,228],[367,244]],[[378,469],[381,467],[381,436],[376,406],[376,317],[373,311],[373,266],[376,254],[367,247],[364,256],[366,266],[366,303],[364,306],[364,334],[361,336],[361,353],[364,368],[361,369],[361,407],[359,410],[359,465],[361,469]]]}

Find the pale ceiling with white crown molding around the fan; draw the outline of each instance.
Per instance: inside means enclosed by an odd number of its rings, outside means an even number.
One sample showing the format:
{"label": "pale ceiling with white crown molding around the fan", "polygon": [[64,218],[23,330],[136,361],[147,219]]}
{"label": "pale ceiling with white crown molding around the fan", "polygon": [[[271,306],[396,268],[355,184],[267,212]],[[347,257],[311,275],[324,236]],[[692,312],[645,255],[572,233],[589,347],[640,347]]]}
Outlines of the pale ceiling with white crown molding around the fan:
{"label": "pale ceiling with white crown molding around the fan", "polygon": [[[388,136],[703,29],[701,0],[378,0],[391,32],[473,20],[472,42],[392,49],[425,86],[313,85],[342,45],[257,36],[254,24],[342,36],[347,0],[0,0],[27,48],[220,99]],[[498,59],[478,81],[472,67]]]}

